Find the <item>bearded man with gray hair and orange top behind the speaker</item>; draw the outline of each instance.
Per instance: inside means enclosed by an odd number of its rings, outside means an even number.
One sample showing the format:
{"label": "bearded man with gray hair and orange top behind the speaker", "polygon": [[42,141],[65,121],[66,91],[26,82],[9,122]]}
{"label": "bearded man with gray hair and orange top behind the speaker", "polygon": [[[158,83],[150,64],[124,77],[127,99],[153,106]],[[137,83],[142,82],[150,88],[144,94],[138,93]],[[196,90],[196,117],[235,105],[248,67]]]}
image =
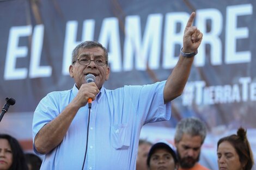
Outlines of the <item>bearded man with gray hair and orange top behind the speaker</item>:
{"label": "bearded man with gray hair and orange top behind the speaker", "polygon": [[195,117],[182,119],[174,137],[179,160],[179,170],[209,170],[198,163],[206,136],[206,125]]}

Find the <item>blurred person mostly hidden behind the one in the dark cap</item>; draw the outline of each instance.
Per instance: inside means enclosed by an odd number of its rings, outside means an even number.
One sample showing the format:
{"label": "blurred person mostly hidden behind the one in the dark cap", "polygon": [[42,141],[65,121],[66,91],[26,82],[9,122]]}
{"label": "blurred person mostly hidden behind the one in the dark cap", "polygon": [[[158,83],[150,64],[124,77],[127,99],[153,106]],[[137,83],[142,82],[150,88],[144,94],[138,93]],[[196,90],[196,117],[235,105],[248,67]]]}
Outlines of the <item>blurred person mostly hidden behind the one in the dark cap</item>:
{"label": "blurred person mostly hidden behind the one in the dark cap", "polygon": [[151,146],[152,146],[151,142],[143,139],[139,140],[138,155],[136,159],[137,170],[148,170],[147,158],[148,158],[148,154]]}

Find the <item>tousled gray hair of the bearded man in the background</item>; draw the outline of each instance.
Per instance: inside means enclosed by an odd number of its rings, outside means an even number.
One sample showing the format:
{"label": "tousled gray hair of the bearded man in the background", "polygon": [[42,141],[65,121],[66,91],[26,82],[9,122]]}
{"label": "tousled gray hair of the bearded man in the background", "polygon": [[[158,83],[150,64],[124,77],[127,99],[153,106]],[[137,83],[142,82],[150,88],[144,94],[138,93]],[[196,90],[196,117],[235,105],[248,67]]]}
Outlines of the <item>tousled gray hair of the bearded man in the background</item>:
{"label": "tousled gray hair of the bearded man in the background", "polygon": [[179,143],[183,134],[200,136],[202,138],[201,144],[203,144],[206,136],[206,125],[196,117],[184,118],[177,124],[175,142]]}

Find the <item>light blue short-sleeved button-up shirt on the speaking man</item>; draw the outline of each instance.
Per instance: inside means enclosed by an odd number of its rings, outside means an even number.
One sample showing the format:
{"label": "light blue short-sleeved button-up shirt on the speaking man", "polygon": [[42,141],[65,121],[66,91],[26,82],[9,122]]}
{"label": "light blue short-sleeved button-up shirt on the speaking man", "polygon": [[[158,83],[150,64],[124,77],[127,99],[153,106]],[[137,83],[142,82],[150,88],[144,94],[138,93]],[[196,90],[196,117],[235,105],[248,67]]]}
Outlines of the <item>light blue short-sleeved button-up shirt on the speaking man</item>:
{"label": "light blue short-sleeved button-up shirt on the speaking man", "polygon": [[[164,104],[166,81],[144,86],[101,88],[92,103],[88,149],[84,169],[135,169],[138,140],[146,123],[170,119],[170,102]],[[75,98],[77,87],[51,92],[34,112],[33,142],[38,131],[56,118]],[[82,169],[86,151],[88,105],[80,108],[63,141],[45,155],[41,169]],[[39,154],[33,147],[34,152]]]}

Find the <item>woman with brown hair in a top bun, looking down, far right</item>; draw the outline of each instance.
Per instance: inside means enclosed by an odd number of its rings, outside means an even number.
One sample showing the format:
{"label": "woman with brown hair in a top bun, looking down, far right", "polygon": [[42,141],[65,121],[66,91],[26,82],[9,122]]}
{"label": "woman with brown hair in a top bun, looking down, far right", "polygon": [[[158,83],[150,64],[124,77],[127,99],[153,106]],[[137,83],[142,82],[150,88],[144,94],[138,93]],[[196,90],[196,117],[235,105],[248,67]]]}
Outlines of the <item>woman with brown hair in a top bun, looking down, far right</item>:
{"label": "woman with brown hair in a top bun, looking down, far right", "polygon": [[217,144],[218,168],[225,170],[251,170],[254,164],[246,130],[221,138]]}

